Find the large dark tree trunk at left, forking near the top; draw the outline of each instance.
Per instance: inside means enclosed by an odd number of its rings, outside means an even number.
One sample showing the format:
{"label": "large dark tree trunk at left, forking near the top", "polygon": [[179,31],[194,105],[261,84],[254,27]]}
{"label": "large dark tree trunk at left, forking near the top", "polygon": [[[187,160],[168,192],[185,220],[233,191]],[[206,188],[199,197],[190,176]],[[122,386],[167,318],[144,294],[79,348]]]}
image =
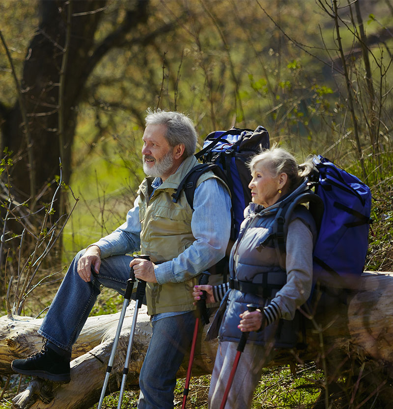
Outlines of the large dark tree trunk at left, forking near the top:
{"label": "large dark tree trunk at left, forking near the top", "polygon": [[[13,162],[8,168],[9,185],[8,181],[7,184],[2,181],[1,200],[6,204],[0,207],[0,218],[5,219],[7,215],[8,219],[2,231],[7,244],[2,248],[0,264],[7,260],[11,265],[7,272],[11,271],[11,275],[12,271],[19,271],[17,254],[22,241],[18,234],[24,229],[21,220],[27,220],[24,217],[30,213],[27,223],[43,224],[41,210],[52,202],[58,187],[54,181],[56,175],[60,175],[59,159],[61,181],[69,183],[78,104],[86,97],[85,86],[91,72],[108,51],[123,46],[126,38],[130,41],[128,34],[146,23],[149,1],[118,2],[120,9],[125,8],[124,13],[119,12],[123,19],[100,41],[97,41],[96,31],[105,15],[106,0],[41,0],[37,4],[39,26],[28,46],[22,78],[16,81],[19,98],[11,106],[4,95],[0,97],[3,99],[0,100],[1,151],[4,148],[12,151],[9,157]],[[14,202],[7,202],[8,193]],[[25,201],[28,211],[24,206],[17,206]],[[53,201],[55,215],[51,216],[51,220],[57,220],[58,228],[66,220],[63,216],[67,209],[62,204],[60,190]],[[16,216],[10,217],[7,205]],[[26,234],[23,244],[22,257],[35,248],[35,237]],[[61,236],[57,246],[60,250]],[[53,254],[58,257],[60,252]],[[0,294],[4,293],[1,281]]]}

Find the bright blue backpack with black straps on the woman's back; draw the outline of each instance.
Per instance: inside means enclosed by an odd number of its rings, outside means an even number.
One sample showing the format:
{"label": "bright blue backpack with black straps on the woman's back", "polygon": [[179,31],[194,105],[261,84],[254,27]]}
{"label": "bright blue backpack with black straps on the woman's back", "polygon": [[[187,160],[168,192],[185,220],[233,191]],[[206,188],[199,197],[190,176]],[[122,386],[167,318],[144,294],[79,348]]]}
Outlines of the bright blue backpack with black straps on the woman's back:
{"label": "bright blue backpack with black straps on the woman's back", "polygon": [[[274,224],[276,249],[285,252],[293,209],[309,203],[318,228],[313,251],[313,282],[322,288],[353,288],[363,273],[371,223],[371,193],[356,176],[325,157],[313,158],[313,175],[294,201],[281,203]],[[311,190],[314,188],[314,191]]]}

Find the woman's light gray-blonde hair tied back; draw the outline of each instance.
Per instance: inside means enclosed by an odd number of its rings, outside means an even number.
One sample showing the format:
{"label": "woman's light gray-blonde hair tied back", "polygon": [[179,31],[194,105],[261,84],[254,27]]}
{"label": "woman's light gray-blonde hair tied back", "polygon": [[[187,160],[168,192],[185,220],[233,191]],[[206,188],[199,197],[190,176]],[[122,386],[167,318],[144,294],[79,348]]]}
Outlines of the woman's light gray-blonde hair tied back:
{"label": "woman's light gray-blonde hair tied back", "polygon": [[263,165],[273,177],[278,176],[280,173],[288,175],[289,191],[296,189],[313,170],[311,159],[307,159],[306,162],[298,165],[292,154],[277,147],[277,145],[273,145],[270,149],[262,151],[251,159],[248,164],[251,172],[260,161],[263,161]]}

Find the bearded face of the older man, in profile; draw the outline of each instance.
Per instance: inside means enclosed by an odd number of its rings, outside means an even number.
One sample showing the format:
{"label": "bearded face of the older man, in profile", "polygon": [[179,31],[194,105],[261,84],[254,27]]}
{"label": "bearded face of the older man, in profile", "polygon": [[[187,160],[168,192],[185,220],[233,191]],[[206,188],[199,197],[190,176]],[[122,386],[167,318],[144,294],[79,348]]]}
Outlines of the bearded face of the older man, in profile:
{"label": "bearded face of the older man, in profile", "polygon": [[147,125],[143,133],[143,171],[147,176],[166,178],[172,173],[173,149],[169,146],[165,125]]}

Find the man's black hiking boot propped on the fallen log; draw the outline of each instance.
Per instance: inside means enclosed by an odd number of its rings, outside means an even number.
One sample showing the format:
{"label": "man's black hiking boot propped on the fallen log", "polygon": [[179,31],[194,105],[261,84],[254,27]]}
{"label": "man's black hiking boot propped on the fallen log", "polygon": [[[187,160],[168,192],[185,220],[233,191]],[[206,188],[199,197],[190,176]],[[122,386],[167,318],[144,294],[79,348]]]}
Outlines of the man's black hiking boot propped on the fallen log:
{"label": "man's black hiking boot propped on the fallen log", "polygon": [[61,356],[46,344],[27,359],[15,359],[11,369],[18,374],[48,379],[58,383],[68,383],[70,360]]}

